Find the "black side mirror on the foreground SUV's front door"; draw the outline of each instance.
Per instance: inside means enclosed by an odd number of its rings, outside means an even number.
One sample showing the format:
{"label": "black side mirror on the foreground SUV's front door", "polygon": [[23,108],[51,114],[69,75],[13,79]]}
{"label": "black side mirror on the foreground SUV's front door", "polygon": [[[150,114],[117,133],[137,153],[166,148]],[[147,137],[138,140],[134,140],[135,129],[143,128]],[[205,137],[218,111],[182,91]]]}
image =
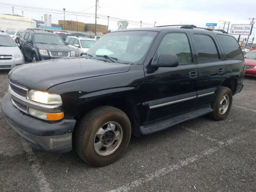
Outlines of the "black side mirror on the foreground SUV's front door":
{"label": "black side mirror on the foreground SUV's front door", "polygon": [[178,67],[179,58],[175,54],[161,54],[156,63],[153,63],[154,67]]}

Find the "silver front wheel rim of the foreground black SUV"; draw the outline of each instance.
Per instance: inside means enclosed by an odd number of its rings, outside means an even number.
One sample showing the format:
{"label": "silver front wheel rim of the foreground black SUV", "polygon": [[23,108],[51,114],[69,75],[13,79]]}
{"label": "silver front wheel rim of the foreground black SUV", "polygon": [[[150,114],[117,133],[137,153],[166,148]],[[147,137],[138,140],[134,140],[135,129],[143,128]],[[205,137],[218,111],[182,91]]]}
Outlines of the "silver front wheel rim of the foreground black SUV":
{"label": "silver front wheel rim of the foreground black SUV", "polygon": [[94,137],[94,150],[102,156],[114,153],[123,140],[122,126],[117,122],[102,125]]}

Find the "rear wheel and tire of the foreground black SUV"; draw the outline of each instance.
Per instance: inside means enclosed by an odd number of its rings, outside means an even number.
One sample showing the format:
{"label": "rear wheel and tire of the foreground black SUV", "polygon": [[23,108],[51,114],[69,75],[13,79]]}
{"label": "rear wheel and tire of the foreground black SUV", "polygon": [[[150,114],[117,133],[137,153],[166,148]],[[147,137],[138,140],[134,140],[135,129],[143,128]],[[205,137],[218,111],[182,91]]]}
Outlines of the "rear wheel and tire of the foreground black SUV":
{"label": "rear wheel and tire of the foreground black SUV", "polygon": [[228,87],[221,86],[212,104],[213,112],[211,117],[217,121],[225,119],[232,106],[232,101],[232,91]]}

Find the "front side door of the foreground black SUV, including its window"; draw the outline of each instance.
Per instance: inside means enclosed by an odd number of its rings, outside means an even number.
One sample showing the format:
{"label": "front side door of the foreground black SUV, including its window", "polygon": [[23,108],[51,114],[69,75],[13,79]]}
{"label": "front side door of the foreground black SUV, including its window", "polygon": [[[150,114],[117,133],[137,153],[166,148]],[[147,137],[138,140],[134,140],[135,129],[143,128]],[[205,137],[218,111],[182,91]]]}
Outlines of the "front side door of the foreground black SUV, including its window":
{"label": "front side door of the foreground black SUV, including its window", "polygon": [[148,101],[150,114],[148,121],[171,116],[193,109],[196,103],[197,68],[191,54],[186,33],[166,34],[155,53],[154,60],[161,54],[175,54],[179,58],[178,67],[158,67],[146,78],[154,78],[158,99]]}

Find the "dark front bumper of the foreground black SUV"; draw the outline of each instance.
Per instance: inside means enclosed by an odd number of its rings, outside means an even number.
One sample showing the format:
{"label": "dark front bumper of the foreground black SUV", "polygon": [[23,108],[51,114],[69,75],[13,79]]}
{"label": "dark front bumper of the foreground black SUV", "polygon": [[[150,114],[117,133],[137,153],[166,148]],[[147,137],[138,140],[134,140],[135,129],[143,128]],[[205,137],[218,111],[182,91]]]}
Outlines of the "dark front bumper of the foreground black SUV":
{"label": "dark front bumper of the foreground black SUV", "polygon": [[75,119],[64,119],[58,123],[47,123],[21,113],[14,107],[6,93],[1,102],[1,108],[7,123],[20,138],[34,147],[65,153],[72,150],[72,132]]}

